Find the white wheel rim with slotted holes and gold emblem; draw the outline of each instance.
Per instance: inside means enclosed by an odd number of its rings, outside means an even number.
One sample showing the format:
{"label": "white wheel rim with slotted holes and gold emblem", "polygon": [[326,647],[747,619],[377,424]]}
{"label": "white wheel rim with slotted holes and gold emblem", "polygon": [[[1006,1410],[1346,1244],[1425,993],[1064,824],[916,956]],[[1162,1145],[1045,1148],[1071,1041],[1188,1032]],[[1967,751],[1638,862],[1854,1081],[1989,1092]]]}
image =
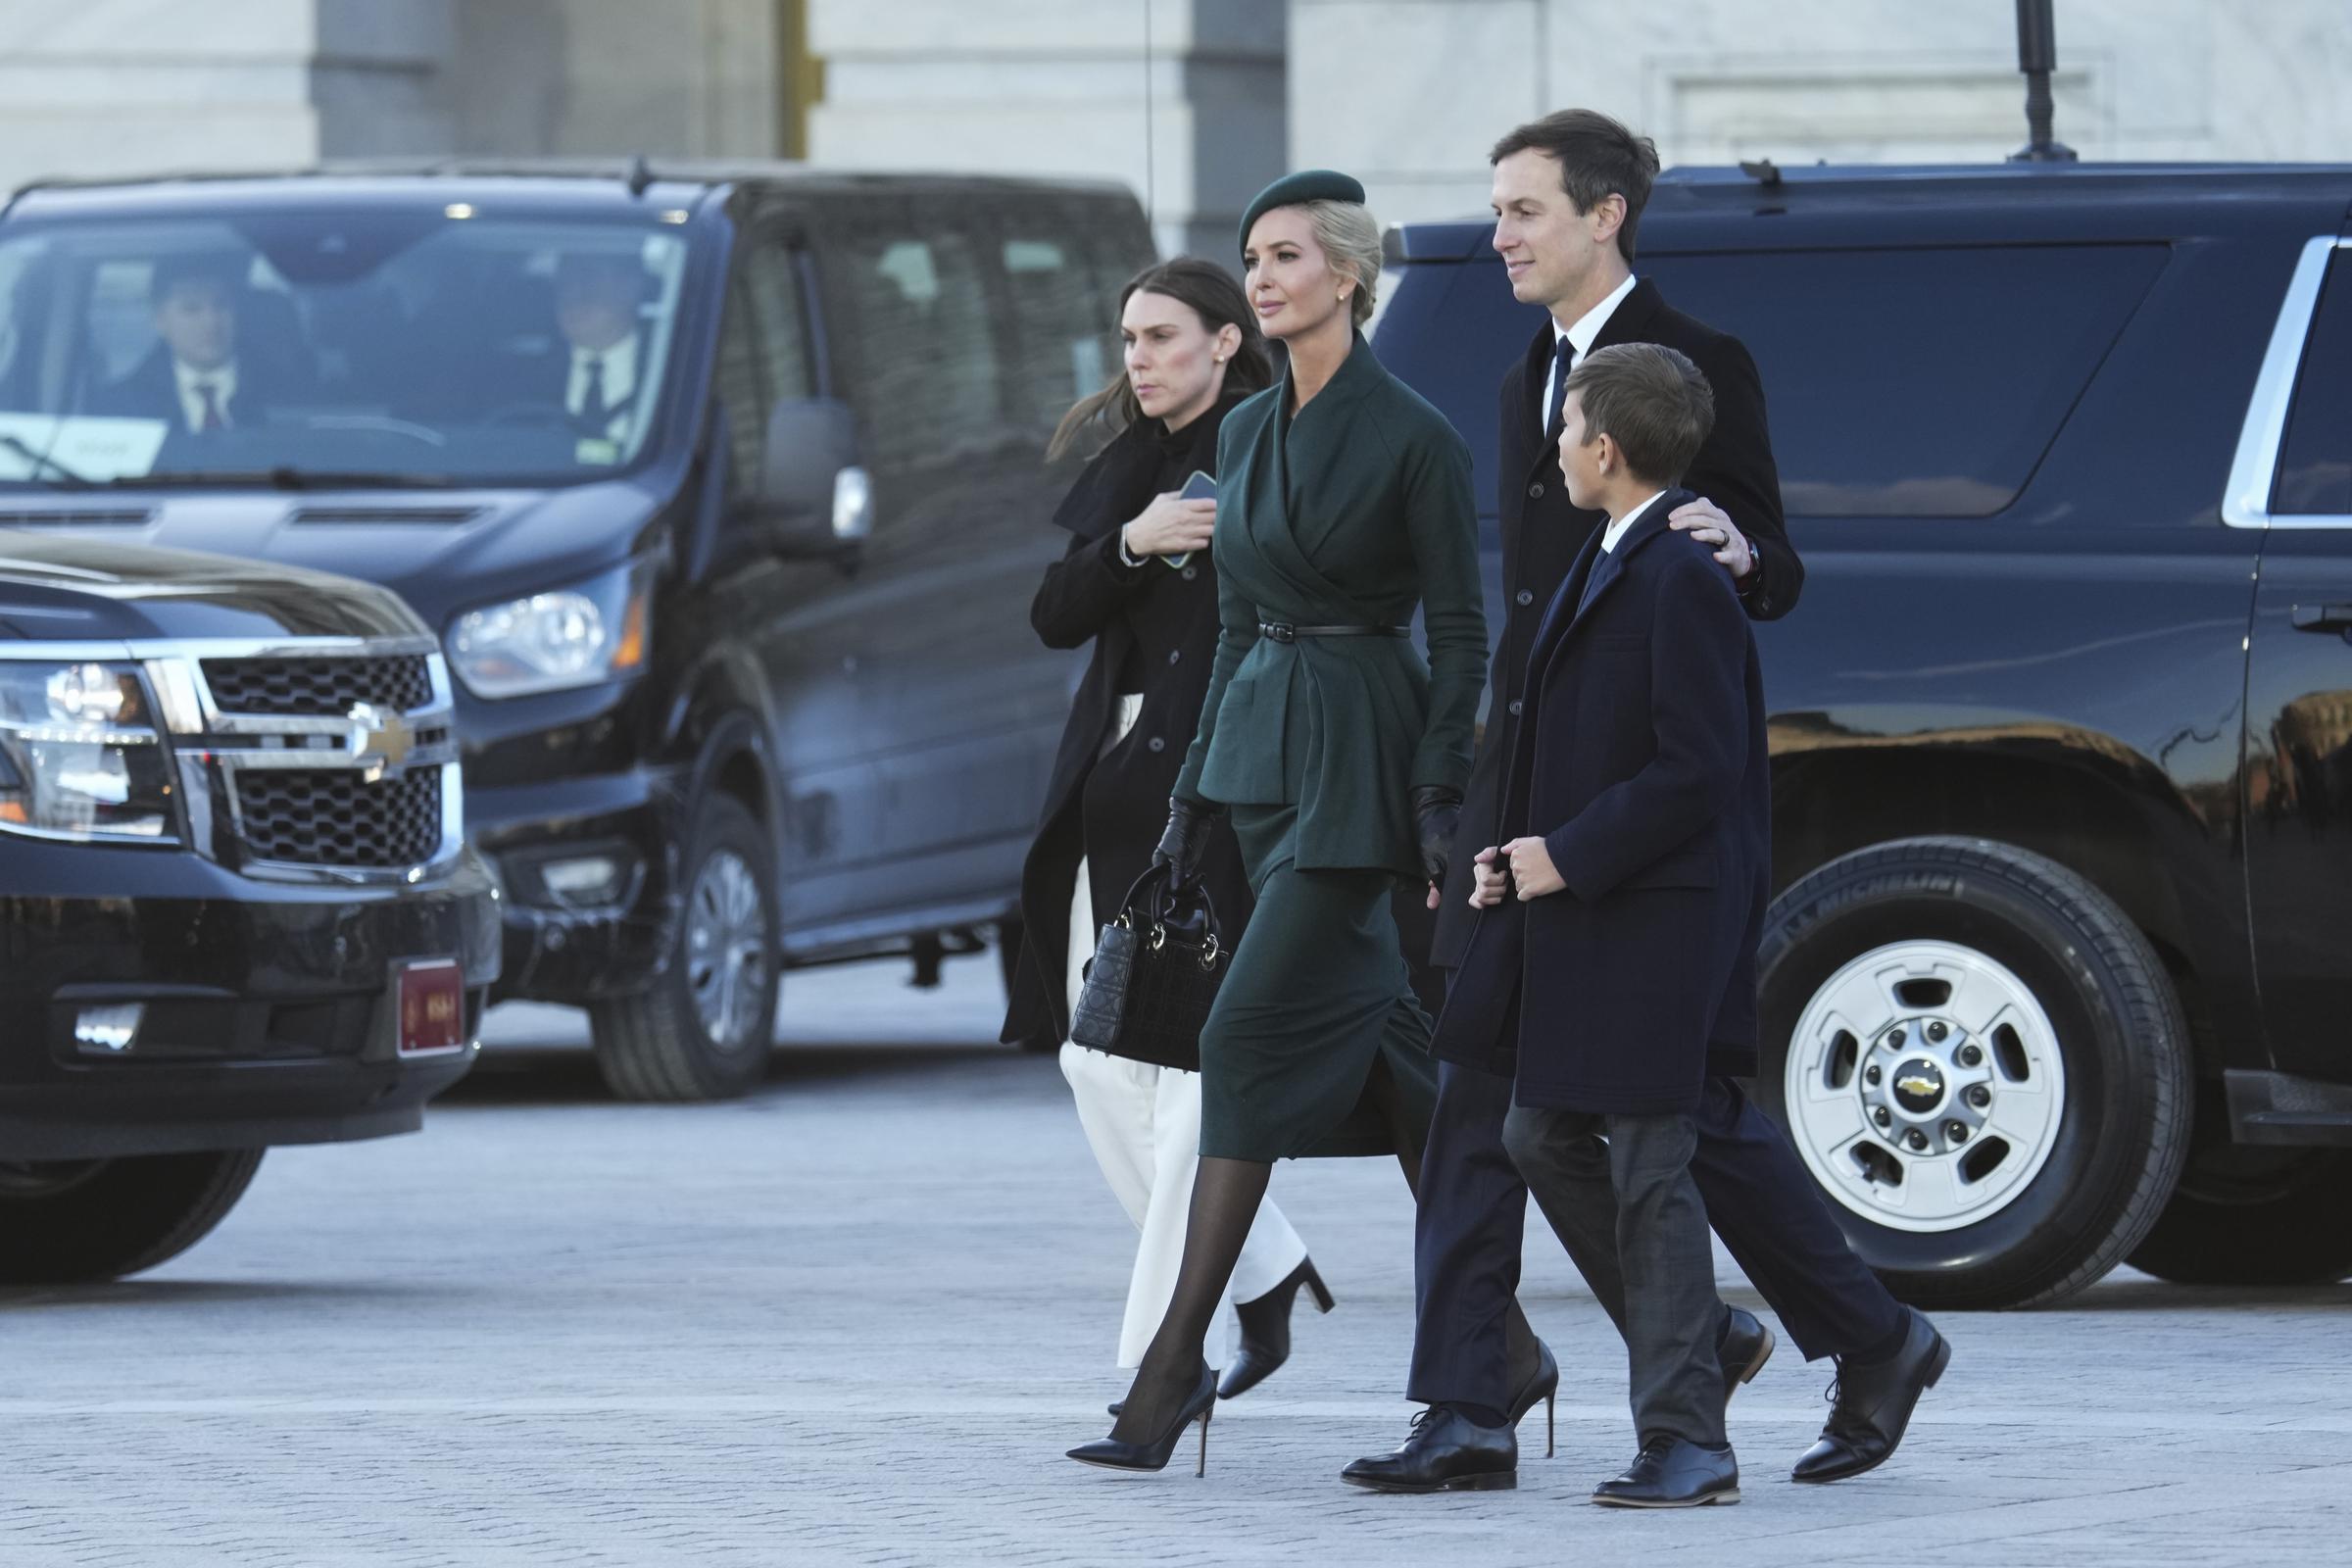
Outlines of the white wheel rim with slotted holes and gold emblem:
{"label": "white wheel rim with slotted holes and gold emblem", "polygon": [[1797,1154],[1830,1197],[1872,1225],[1945,1232],[2042,1173],[2065,1058],[2032,990],[1994,959],[1889,943],[1813,992],[1783,1091]]}

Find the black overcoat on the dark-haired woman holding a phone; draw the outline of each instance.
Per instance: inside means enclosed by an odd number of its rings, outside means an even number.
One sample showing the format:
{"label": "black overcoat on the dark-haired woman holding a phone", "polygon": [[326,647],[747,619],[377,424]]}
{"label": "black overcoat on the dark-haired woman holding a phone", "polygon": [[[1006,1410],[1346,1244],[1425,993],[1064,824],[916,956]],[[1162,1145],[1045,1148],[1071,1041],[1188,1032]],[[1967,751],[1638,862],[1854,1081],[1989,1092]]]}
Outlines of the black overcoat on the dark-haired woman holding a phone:
{"label": "black overcoat on the dark-haired woman holding a phone", "polygon": [[[1183,567],[1120,559],[1120,529],[1162,489],[1181,489],[1188,473],[1216,473],[1216,433],[1240,395],[1218,402],[1174,437],[1155,418],[1122,430],[1077,477],[1054,522],[1073,534],[1070,550],[1047,567],[1030,602],[1030,625],[1049,649],[1094,644],[1077,684],[1070,724],[1047,785],[1037,842],[1021,867],[1021,954],[1014,961],[1004,1039],[1068,1039],[1065,992],[1070,882],[1080,856],[1094,886],[1094,907],[1110,912],[1152,860],[1169,820],[1176,771],[1200,724],[1202,696],[1216,656],[1216,569],[1209,550]],[[1120,670],[1143,682],[1143,712],[1127,741],[1103,752],[1117,717]],[[1216,903],[1225,947],[1249,922],[1249,879],[1242,851],[1223,820],[1209,839],[1202,882]],[[1096,933],[1077,940],[1094,945]],[[1200,1053],[1160,1060],[1200,1070]]]}

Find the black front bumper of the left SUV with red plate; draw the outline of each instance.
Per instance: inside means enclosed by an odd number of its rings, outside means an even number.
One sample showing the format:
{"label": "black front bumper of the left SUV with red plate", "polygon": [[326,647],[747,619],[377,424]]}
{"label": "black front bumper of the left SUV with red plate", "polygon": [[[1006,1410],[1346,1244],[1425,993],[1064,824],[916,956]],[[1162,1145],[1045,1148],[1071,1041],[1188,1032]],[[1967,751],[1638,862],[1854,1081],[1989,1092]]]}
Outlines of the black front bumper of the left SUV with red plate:
{"label": "black front bumper of the left SUV with red plate", "polygon": [[[416,1131],[466,1074],[499,973],[489,875],[412,886],[233,877],[172,851],[19,844],[0,896],[0,1159],[96,1159]],[[466,1046],[402,1056],[397,971],[456,959]],[[127,1044],[78,1039],[139,1009]]]}

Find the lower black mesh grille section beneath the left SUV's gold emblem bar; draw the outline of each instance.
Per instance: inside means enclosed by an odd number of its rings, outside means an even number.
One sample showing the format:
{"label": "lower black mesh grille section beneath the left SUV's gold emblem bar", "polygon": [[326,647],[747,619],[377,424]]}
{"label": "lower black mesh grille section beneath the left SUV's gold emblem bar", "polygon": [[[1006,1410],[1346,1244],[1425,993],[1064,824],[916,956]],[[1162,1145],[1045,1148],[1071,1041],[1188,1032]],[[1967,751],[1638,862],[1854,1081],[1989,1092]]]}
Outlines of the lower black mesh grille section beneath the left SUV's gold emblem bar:
{"label": "lower black mesh grille section beneath the left SUV's gold emblem bar", "polygon": [[421,865],[442,842],[442,769],[367,783],[358,769],[238,773],[238,832],[261,860]]}

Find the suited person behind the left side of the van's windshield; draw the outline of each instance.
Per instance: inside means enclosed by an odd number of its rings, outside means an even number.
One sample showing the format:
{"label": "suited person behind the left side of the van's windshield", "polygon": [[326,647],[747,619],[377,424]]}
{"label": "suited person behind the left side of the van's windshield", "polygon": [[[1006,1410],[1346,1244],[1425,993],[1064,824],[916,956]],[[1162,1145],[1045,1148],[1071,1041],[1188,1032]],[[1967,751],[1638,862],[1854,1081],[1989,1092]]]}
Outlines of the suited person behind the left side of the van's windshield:
{"label": "suited person behind the left side of the van's windshield", "polygon": [[99,388],[92,414],[162,418],[172,435],[209,435],[259,423],[273,402],[268,376],[238,355],[233,256],[162,256],[148,282],[155,348]]}

